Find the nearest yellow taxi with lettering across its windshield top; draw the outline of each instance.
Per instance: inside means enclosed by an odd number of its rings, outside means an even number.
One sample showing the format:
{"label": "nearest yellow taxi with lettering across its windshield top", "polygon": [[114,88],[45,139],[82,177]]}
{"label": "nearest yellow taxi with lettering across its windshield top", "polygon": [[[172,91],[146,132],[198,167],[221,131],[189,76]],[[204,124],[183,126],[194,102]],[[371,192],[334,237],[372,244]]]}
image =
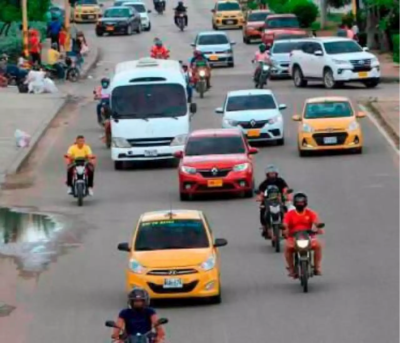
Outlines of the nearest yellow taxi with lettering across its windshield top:
{"label": "nearest yellow taxi with lettering across its windshield top", "polygon": [[130,243],[126,289],[144,288],[152,299],[208,298],[221,302],[220,254],[226,239],[214,239],[202,211],[144,213]]}

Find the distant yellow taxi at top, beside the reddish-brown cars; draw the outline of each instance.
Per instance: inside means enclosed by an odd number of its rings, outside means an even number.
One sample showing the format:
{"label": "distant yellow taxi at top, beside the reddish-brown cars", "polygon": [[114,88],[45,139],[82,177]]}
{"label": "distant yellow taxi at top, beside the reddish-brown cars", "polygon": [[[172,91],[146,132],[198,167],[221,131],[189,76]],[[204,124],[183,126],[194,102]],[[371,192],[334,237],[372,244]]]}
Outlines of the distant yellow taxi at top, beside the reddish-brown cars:
{"label": "distant yellow taxi at top, beside the reddish-brown cars", "polygon": [[217,1],[212,12],[212,28],[243,28],[244,15],[239,2],[231,0]]}

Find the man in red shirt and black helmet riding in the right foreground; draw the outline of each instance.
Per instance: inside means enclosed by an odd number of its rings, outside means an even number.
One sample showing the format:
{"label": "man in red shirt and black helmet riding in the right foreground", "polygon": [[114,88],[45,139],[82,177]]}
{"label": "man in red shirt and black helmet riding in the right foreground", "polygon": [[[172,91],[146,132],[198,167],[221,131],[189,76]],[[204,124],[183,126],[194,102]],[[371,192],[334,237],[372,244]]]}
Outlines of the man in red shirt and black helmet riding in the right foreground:
{"label": "man in red shirt and black helmet riding in the right foreground", "polygon": [[[297,277],[294,272],[293,254],[295,251],[295,242],[292,235],[296,231],[311,230],[315,233],[320,232],[316,225],[320,223],[316,212],[307,208],[308,198],[304,193],[296,193],[293,196],[294,209],[286,213],[283,219],[284,237],[286,237],[285,244],[285,259],[289,276]],[[316,235],[311,238],[311,249],[314,250],[314,274],[322,275],[321,273],[321,260],[322,260],[322,247]]]}

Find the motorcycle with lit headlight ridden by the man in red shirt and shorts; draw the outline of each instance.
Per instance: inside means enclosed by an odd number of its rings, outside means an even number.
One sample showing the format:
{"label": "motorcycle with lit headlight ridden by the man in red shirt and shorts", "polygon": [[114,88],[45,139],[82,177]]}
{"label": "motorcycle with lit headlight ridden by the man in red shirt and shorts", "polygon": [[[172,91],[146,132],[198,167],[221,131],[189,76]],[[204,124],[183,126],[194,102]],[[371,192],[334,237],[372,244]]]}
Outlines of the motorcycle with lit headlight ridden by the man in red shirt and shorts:
{"label": "motorcycle with lit headlight ridden by the man in red shirt and shorts", "polygon": [[304,230],[296,232],[294,235],[294,272],[299,276],[303,292],[308,292],[308,279],[314,276],[314,251],[311,249],[311,238],[313,235],[322,234],[324,223],[316,225],[318,231]]}

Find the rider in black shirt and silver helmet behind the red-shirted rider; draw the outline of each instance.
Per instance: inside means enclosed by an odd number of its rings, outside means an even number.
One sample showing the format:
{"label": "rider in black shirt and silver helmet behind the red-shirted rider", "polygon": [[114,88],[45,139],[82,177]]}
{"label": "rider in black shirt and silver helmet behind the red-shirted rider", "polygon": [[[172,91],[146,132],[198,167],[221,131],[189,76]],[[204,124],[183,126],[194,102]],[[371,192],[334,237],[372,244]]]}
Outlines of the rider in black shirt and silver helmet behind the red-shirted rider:
{"label": "rider in black shirt and silver helmet behind the red-shirted rider", "polygon": [[[260,186],[258,186],[258,201],[262,201],[262,198],[264,197],[264,193],[268,186],[276,186],[279,189],[279,193],[281,196],[286,195],[286,192],[288,191],[289,187],[288,184],[284,179],[279,177],[279,170],[274,166],[273,164],[270,164],[267,166],[265,169],[265,175],[266,179],[262,181]],[[262,206],[263,204],[261,203],[260,206],[260,223],[261,223],[261,229],[262,229],[262,236],[271,238],[271,228],[269,227],[269,223],[265,221],[266,217],[268,216],[268,213],[266,213],[267,209]]]}

